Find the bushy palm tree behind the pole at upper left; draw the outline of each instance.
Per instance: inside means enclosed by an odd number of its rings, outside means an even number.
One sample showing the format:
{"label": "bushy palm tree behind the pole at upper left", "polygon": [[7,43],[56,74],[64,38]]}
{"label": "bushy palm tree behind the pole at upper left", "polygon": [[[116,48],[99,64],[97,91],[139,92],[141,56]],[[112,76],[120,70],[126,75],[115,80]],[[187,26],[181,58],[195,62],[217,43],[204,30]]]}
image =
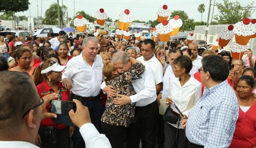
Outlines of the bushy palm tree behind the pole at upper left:
{"label": "bushy palm tree behind the pole at upper left", "polygon": [[[62,13],[62,7],[60,6],[60,14],[64,14],[63,16],[60,15],[60,21],[63,21],[65,19],[66,12],[67,12],[67,7],[63,5],[63,13]],[[50,7],[46,9],[45,18],[42,21],[49,25],[58,24],[57,3],[51,4]]]}

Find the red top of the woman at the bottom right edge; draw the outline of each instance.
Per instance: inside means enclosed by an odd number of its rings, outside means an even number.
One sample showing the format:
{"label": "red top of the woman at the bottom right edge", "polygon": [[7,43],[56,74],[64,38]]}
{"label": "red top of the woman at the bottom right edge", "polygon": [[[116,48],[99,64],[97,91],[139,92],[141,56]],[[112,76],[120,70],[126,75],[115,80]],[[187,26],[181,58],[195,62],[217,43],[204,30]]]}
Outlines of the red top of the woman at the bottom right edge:
{"label": "red top of the woman at the bottom right edge", "polygon": [[256,146],[256,101],[247,112],[239,107],[236,130],[229,148],[252,148]]}

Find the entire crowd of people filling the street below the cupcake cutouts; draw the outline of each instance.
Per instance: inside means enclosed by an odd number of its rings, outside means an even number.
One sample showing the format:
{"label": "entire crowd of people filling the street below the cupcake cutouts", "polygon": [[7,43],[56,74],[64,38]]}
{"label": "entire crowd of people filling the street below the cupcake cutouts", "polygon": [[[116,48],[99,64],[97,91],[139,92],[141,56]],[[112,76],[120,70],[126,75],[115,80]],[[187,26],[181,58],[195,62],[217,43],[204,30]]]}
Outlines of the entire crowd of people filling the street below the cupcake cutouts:
{"label": "entire crowd of people filling the street below the cupcake cutouts", "polygon": [[[236,60],[187,39],[8,33],[0,36],[0,146],[256,148],[255,61],[251,49]],[[76,103],[75,127],[49,118],[53,99]],[[180,118],[165,120],[166,108]]]}

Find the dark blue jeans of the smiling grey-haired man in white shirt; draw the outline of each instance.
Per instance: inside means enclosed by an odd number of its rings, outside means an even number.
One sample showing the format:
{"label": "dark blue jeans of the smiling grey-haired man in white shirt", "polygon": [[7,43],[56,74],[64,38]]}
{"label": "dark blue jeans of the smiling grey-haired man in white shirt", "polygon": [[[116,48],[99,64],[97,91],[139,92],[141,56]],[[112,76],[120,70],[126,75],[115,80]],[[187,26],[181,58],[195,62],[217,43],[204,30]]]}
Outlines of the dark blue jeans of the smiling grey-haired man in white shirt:
{"label": "dark blue jeans of the smiling grey-haired man in white shirt", "polygon": [[[89,108],[91,123],[93,123],[93,125],[99,131],[100,125],[101,125],[101,116],[102,116],[101,97],[98,96],[98,98],[94,101],[87,101],[87,100],[83,100],[78,97],[75,97],[74,94],[71,94],[71,98],[80,100],[84,106]],[[75,127],[75,133],[73,135],[73,147],[74,148],[85,147],[83,137],[81,136],[78,127]]]}

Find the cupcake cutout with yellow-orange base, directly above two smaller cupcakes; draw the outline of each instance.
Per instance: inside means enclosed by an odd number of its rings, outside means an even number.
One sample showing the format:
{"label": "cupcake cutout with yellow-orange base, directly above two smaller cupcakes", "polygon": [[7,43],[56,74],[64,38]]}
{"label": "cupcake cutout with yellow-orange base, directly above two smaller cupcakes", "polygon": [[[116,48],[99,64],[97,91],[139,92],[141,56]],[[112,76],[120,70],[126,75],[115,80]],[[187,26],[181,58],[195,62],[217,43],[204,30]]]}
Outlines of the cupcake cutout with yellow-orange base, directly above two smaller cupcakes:
{"label": "cupcake cutout with yellow-orange base, directly above two smaller cupcakes", "polygon": [[118,13],[117,19],[118,28],[121,30],[127,30],[133,20],[133,17],[132,15],[130,15],[130,11],[128,9],[125,9],[123,12]]}

